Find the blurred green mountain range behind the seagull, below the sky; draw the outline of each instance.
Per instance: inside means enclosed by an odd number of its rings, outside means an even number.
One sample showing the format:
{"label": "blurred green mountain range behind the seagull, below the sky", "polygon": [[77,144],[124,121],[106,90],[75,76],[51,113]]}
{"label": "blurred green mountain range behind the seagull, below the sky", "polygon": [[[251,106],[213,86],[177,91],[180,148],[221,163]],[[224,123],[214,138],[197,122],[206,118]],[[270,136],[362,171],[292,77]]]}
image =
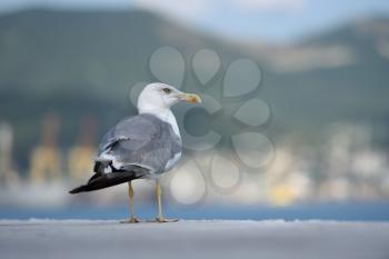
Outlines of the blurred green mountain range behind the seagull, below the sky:
{"label": "blurred green mountain range behind the seagull, below the sky", "polygon": [[[61,117],[63,147],[77,141],[87,116],[97,119],[100,136],[119,118],[134,112],[128,101],[129,88],[154,81],[148,66],[150,54],[171,46],[183,54],[187,66],[203,48],[220,56],[222,71],[238,58],[257,61],[263,80],[255,94],[271,107],[272,120],[265,130],[273,139],[292,135],[320,142],[326,127],[345,120],[388,127],[388,19],[356,21],[292,46],[275,46],[228,42],[143,11],[3,14],[0,121],[12,123],[14,153],[24,166],[48,112]],[[215,87],[203,90],[187,69],[184,89],[206,92],[225,103],[222,76],[219,72],[210,82]],[[229,112],[245,98],[236,99]],[[223,123],[216,127],[228,131]],[[389,137],[381,138],[388,141]]]}

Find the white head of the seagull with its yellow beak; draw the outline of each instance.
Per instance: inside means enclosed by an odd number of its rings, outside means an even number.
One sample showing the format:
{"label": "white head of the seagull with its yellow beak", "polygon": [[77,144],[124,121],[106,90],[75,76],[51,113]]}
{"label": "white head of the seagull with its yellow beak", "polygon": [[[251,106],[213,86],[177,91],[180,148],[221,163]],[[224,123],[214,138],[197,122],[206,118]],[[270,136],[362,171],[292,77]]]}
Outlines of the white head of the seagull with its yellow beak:
{"label": "white head of the seagull with its yellow beak", "polygon": [[138,98],[138,110],[142,113],[156,109],[169,109],[179,101],[196,103],[201,102],[201,99],[198,94],[182,92],[166,83],[153,82],[141,91]]}

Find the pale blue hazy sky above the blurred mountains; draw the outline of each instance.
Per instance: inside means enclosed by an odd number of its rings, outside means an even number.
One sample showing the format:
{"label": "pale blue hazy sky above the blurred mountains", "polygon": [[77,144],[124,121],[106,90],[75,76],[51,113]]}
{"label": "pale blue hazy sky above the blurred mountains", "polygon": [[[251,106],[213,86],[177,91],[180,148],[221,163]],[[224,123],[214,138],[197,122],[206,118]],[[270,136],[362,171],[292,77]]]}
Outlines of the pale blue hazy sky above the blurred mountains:
{"label": "pale blue hazy sky above the blurred mountains", "polygon": [[389,0],[0,0],[2,12],[142,8],[218,34],[290,40],[350,19],[389,17]]}

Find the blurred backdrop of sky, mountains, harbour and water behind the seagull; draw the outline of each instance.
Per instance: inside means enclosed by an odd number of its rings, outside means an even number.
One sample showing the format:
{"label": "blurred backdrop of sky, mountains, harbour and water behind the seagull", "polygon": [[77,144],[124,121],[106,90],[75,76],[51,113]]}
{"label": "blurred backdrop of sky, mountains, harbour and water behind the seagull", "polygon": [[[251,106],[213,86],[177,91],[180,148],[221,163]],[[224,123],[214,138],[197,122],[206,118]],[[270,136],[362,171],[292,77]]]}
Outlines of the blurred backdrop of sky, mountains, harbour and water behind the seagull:
{"label": "blurred backdrop of sky, mountains, harbour and water behind the seagull", "polygon": [[[210,100],[174,107],[192,143],[168,215],[389,220],[385,0],[2,0],[0,218],[126,218],[126,185],[68,190],[152,81]],[[134,185],[140,217],[153,185]]]}

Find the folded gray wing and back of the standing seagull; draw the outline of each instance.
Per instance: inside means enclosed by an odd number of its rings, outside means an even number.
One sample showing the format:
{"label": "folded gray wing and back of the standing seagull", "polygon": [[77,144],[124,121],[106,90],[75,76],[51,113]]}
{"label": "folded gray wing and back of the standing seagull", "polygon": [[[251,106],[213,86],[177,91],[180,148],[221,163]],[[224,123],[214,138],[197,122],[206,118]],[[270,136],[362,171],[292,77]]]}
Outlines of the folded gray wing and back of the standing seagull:
{"label": "folded gray wing and back of the standing seagull", "polygon": [[181,152],[181,139],[171,126],[151,114],[120,121],[103,137],[99,158],[112,160],[118,170],[133,165],[161,173],[167,163]]}

